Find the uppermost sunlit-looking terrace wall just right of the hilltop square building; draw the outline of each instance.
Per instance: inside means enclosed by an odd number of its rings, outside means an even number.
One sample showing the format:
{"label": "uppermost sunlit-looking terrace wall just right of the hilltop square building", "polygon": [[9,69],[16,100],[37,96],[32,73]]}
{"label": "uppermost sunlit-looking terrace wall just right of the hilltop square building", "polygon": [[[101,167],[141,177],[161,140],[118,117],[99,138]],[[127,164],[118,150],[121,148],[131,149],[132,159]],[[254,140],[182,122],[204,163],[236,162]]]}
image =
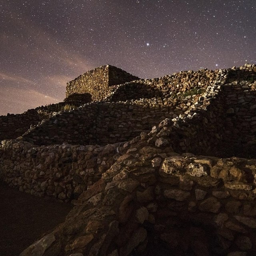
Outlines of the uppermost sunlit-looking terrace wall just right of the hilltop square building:
{"label": "uppermost sunlit-looking terrace wall just right of the hilltop square building", "polygon": [[208,86],[214,84],[217,74],[218,70],[189,70],[160,78],[127,82],[116,86],[106,100],[116,102],[154,97],[165,101],[175,100],[181,96],[187,97],[202,93]]}

